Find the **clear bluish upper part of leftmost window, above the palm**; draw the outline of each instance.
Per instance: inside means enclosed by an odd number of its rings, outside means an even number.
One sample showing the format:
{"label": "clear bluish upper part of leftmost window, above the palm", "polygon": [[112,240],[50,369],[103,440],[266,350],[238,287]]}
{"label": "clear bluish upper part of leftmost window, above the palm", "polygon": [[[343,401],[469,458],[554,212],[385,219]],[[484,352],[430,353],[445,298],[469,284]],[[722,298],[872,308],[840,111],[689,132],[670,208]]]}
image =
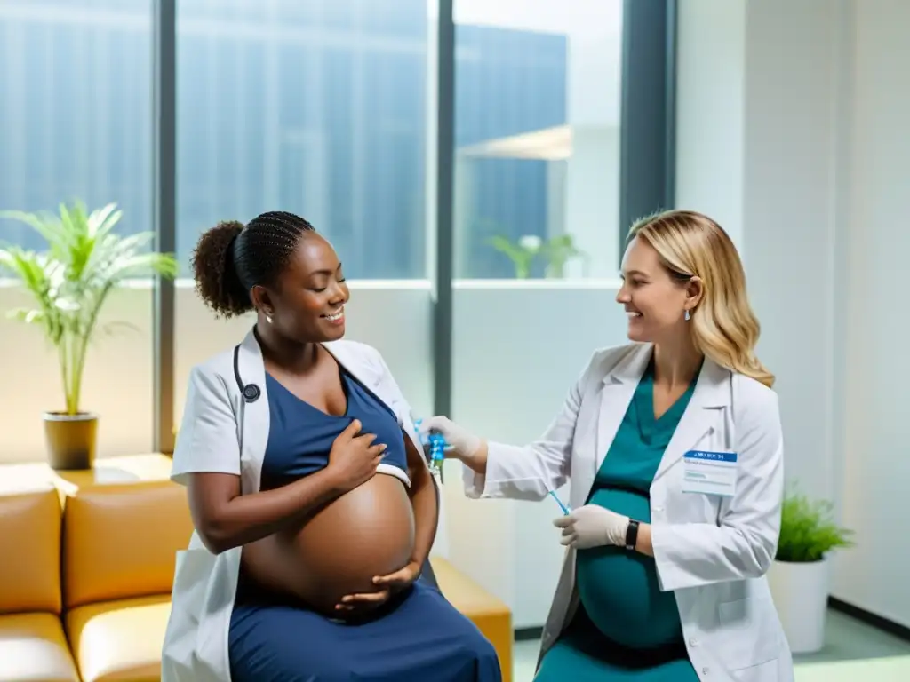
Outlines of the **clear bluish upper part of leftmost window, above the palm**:
{"label": "clear bluish upper part of leftmost window, above the palm", "polygon": [[[118,229],[151,229],[149,0],[0,3],[0,209],[116,203]],[[0,240],[45,244],[0,222]]]}

